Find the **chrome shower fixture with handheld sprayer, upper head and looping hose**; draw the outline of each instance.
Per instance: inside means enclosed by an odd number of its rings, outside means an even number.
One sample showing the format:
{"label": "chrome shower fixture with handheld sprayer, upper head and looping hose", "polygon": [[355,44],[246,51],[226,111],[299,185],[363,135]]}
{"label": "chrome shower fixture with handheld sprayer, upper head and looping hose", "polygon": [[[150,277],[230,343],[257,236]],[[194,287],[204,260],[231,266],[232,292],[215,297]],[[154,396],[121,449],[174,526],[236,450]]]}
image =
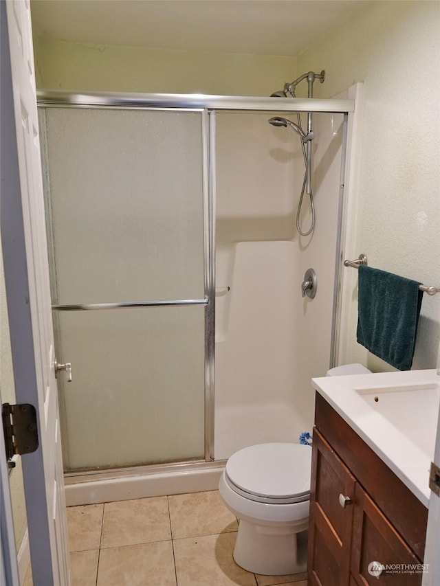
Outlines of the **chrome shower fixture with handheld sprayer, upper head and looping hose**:
{"label": "chrome shower fixture with handheld sprayer, upper head and looping hose", "polygon": [[[316,80],[320,80],[321,83],[325,80],[325,71],[322,69],[320,74],[314,73],[314,71],[308,71],[307,74],[303,74],[296,78],[292,83],[285,83],[284,88],[281,91],[274,91],[271,94],[271,98],[287,98],[287,95],[290,94],[292,98],[296,98],[295,90],[298,83],[302,82],[303,80],[307,79],[307,98],[313,98],[314,95],[314,82]],[[307,133],[303,131],[301,126],[301,118],[299,112],[297,112],[298,117],[298,124],[295,124],[291,120],[287,120],[287,118],[283,118],[280,116],[275,116],[270,118],[269,123],[272,126],[284,126],[287,128],[289,126],[294,130],[298,135],[301,137],[301,147],[303,148],[303,157],[304,157],[304,164],[305,164],[305,175],[303,181],[303,188],[301,190],[300,201],[298,204],[298,211],[296,212],[296,229],[301,236],[309,236],[315,229],[315,204],[314,204],[314,194],[311,189],[311,158],[312,158],[312,148],[311,148],[311,141],[314,139],[315,134],[312,130],[312,120],[313,115],[311,112],[307,113]],[[306,148],[307,146],[307,148]],[[304,193],[307,193],[310,199],[310,207],[311,207],[311,225],[307,232],[303,232],[300,227],[300,212],[301,207],[303,205],[303,197]]]}

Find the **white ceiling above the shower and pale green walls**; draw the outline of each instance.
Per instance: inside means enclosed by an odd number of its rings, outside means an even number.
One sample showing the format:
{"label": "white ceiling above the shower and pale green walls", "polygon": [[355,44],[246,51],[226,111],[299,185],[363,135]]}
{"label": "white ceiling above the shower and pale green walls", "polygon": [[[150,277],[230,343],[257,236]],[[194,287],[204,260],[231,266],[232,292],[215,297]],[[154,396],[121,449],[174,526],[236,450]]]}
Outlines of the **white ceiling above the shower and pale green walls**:
{"label": "white ceiling above the shower and pale green walls", "polygon": [[31,7],[41,40],[296,56],[366,1],[32,0]]}

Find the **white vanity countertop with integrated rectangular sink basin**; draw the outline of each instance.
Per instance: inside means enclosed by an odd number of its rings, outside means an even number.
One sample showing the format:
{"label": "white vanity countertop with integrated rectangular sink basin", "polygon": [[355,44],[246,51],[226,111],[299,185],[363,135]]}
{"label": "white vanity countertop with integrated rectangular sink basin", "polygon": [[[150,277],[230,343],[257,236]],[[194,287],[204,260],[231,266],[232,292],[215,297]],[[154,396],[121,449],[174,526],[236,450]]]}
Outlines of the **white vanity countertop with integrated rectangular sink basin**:
{"label": "white vanity countertop with integrated rectangular sink basin", "polygon": [[326,376],[312,383],[428,506],[440,407],[437,370]]}

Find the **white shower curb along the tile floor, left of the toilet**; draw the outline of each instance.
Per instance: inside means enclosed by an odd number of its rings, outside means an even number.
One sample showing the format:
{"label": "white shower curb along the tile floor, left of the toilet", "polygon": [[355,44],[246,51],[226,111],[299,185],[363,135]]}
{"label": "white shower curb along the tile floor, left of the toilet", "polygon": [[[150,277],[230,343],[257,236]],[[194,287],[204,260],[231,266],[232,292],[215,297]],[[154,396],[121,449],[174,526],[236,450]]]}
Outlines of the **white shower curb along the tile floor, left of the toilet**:
{"label": "white shower curb along the tile floor, left of the toilet", "polygon": [[215,491],[223,467],[139,474],[66,484],[67,506]]}

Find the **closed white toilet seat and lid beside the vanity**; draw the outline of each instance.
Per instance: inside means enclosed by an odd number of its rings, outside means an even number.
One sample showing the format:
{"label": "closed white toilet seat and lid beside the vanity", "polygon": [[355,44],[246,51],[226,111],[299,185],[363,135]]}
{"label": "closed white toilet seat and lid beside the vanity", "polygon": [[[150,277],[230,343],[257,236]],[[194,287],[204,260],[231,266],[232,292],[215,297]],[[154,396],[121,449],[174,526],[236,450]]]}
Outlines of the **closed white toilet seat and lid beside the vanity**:
{"label": "closed white toilet seat and lid beside the vanity", "polygon": [[258,444],[234,453],[225,482],[254,502],[293,504],[309,500],[311,448],[302,444]]}

